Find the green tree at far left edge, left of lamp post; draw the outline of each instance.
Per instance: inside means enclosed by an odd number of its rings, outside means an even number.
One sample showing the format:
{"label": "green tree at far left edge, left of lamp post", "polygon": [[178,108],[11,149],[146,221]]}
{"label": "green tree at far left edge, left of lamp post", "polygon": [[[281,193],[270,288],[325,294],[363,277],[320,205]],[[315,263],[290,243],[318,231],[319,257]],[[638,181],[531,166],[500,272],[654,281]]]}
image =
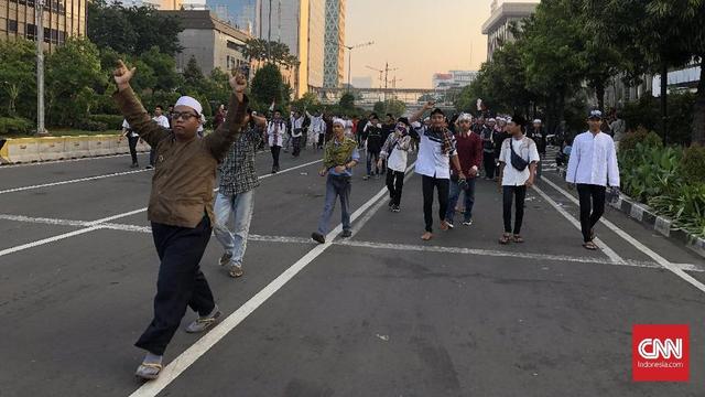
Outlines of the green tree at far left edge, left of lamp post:
{"label": "green tree at far left edge, left of lamp post", "polygon": [[35,44],[28,40],[0,42],[0,103],[8,116],[32,118],[36,109],[34,51]]}

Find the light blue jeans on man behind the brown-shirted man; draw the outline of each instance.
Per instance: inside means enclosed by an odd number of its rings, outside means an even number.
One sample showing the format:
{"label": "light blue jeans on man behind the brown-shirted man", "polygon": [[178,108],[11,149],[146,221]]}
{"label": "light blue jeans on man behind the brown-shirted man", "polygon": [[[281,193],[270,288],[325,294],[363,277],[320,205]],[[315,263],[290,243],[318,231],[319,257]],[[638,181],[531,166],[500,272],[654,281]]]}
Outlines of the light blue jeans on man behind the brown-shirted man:
{"label": "light blue jeans on man behind the brown-shirted man", "polygon": [[[214,232],[225,251],[232,255],[230,266],[242,266],[253,207],[254,191],[236,194],[234,196],[218,193],[216,196],[216,204],[214,206],[216,217]],[[230,223],[232,224],[232,229],[228,227]]]}

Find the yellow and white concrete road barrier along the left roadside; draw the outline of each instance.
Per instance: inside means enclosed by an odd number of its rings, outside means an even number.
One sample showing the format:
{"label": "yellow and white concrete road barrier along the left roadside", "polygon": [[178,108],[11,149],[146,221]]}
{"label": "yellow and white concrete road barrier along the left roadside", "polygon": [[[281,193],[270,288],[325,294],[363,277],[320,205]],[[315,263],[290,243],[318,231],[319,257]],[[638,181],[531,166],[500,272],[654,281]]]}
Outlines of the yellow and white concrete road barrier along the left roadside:
{"label": "yellow and white concrete road barrier along the left roadside", "polygon": [[[138,152],[150,150],[140,142]],[[79,159],[129,153],[127,138],[122,135],[76,137],[10,138],[0,146],[0,164]]]}

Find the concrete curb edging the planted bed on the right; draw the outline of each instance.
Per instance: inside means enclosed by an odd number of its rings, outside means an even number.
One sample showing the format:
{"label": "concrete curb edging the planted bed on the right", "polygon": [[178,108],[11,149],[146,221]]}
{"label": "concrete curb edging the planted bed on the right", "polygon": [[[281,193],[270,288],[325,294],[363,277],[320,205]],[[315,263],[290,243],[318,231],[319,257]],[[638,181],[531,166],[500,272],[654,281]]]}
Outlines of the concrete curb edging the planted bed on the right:
{"label": "concrete curb edging the planted bed on the right", "polygon": [[[561,178],[565,178],[565,168],[558,168],[557,172]],[[648,205],[638,203],[631,197],[620,194],[619,200],[610,204],[610,206],[627,214],[630,218],[639,222],[643,226],[655,230],[660,235],[685,245],[685,247],[705,258],[705,238],[697,237],[684,229],[677,228],[673,225],[672,219],[658,215]]]}

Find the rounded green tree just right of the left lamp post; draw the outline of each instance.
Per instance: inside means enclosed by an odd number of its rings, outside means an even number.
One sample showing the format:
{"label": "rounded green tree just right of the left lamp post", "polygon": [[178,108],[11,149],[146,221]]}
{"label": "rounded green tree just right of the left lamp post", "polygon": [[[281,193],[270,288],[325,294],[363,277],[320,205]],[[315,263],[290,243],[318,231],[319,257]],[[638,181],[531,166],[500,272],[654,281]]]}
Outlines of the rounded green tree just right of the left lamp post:
{"label": "rounded green tree just right of the left lamp post", "polygon": [[76,126],[88,118],[107,84],[98,49],[72,37],[46,57],[47,118],[55,126]]}

